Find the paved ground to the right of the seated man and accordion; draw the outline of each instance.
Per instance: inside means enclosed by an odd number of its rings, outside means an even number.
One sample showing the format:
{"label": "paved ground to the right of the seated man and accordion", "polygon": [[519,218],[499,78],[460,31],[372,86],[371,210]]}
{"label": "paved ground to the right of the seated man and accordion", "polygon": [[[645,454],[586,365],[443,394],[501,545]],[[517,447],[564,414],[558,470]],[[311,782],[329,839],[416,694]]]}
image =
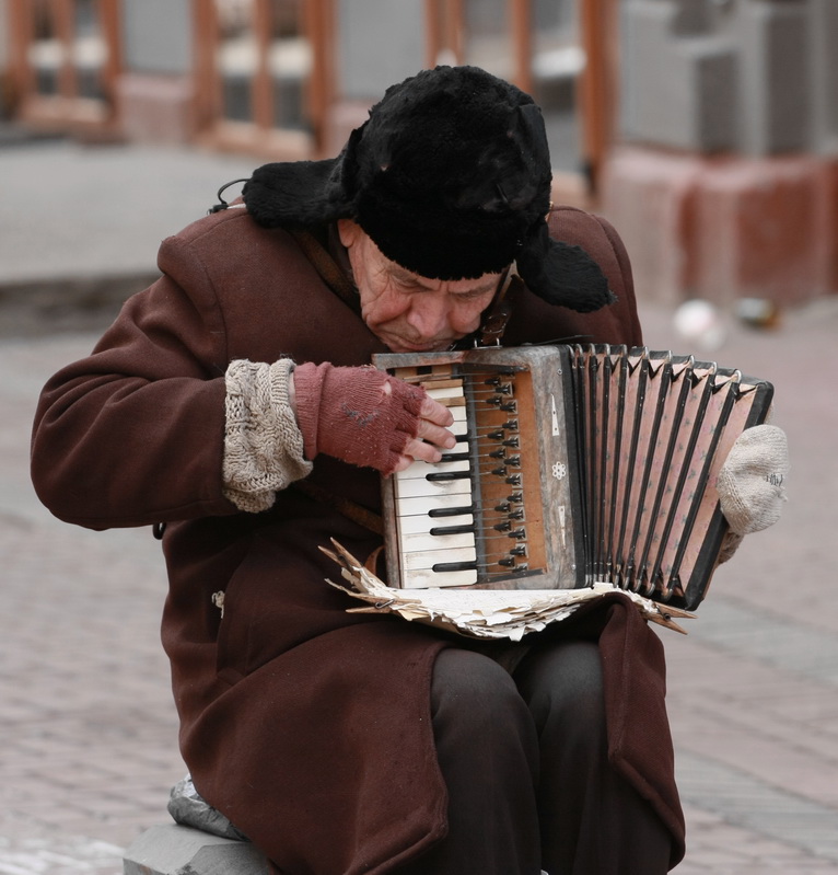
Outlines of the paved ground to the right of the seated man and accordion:
{"label": "paved ground to the right of the seated man and accordion", "polygon": [[[683,348],[648,310],[647,343]],[[663,636],[688,820],[679,875],[838,872],[838,609],[830,598],[838,406],[824,353],[838,307],[775,332],[733,325],[722,364],[770,379],[789,435],[789,503],[715,575],[688,637]]]}

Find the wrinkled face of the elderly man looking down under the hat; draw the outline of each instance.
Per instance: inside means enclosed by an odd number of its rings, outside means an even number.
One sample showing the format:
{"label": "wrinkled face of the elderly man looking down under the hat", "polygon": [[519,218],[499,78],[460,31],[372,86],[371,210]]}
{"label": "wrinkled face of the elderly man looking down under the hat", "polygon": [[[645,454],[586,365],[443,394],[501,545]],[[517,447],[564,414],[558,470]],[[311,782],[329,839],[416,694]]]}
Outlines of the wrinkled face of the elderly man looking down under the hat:
{"label": "wrinkled face of the elderly man looking down under the hat", "polygon": [[500,274],[484,274],[478,279],[428,279],[385,257],[356,222],[341,219],[338,230],[361,293],[361,315],[392,352],[447,349],[479,326]]}

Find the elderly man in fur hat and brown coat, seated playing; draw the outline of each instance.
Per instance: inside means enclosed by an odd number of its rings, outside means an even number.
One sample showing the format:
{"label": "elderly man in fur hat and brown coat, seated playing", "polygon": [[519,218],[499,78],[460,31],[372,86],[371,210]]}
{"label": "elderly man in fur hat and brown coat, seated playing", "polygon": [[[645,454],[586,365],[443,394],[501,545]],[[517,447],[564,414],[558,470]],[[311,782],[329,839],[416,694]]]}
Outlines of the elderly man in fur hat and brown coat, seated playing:
{"label": "elderly man in fur hat and brown coat, seated playing", "polygon": [[62,519],[163,532],[163,644],[201,795],[286,875],[674,865],[662,649],[620,596],[473,644],[348,613],[324,583],[329,539],[380,545],[381,475],[453,445],[449,411],[373,354],[489,329],[641,342],[619,239],[550,204],[532,99],[423,71],[338,158],[260,168],[159,264],[45,388],[33,477]]}

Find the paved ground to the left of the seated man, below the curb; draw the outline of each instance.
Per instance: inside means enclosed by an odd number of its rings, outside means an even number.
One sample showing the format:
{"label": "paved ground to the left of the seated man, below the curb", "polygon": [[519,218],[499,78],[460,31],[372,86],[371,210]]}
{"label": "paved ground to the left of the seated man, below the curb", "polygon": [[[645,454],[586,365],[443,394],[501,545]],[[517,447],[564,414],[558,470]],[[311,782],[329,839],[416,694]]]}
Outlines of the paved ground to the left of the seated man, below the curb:
{"label": "paved ground to the left of the seated man, below the curb", "polygon": [[167,787],[185,772],[159,644],[156,541],[66,526],[27,483],[37,384],[91,339],[0,346],[10,378],[0,391],[0,873],[10,875],[120,871],[120,849],[165,816]]}

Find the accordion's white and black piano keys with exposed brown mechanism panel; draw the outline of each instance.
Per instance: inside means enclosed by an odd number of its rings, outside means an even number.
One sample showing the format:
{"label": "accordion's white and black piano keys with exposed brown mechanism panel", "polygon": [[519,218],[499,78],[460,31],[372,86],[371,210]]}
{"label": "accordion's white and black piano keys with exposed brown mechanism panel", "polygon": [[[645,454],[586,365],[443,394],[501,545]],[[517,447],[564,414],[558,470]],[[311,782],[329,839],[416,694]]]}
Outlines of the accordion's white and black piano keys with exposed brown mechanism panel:
{"label": "accordion's white and black piano keys with exposed brown mechanism panel", "polygon": [[[451,410],[457,438],[439,463],[418,461],[388,479],[385,516],[397,543],[388,566],[395,557],[399,585],[535,588],[549,565],[544,515],[549,483],[543,482],[536,446],[544,428],[531,368],[520,359],[469,359],[394,372]],[[563,521],[563,507],[561,513]]]}

